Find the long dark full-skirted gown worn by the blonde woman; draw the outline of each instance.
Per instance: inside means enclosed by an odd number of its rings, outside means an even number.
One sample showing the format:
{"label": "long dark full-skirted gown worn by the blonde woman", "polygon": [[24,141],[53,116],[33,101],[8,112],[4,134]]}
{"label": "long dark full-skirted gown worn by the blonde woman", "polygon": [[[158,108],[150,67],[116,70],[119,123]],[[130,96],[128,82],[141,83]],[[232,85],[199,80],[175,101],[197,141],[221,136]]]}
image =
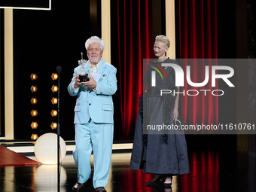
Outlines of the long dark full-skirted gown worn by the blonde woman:
{"label": "long dark full-skirted gown worn by the blonde woman", "polygon": [[[167,59],[165,62],[173,63],[175,61]],[[156,66],[152,68],[151,65],[154,66],[154,63],[149,64],[144,83],[151,84],[151,70],[157,68]],[[157,62],[157,66],[160,66],[159,62]],[[163,71],[163,69],[161,70]],[[145,124],[148,123],[173,124],[172,111],[175,97],[157,95],[160,89],[175,89],[174,70],[168,67],[164,71],[167,78],[163,79],[157,74],[156,81],[161,82],[160,86],[153,87],[153,89],[148,87],[147,93],[143,96],[143,105],[142,102],[139,105],[130,169],[144,169],[145,173],[181,175],[189,172],[184,133],[174,131],[171,134],[143,134],[143,122],[145,122],[144,129]],[[148,108],[145,107],[145,102],[148,102]],[[147,113],[149,114],[148,118],[146,117]]]}

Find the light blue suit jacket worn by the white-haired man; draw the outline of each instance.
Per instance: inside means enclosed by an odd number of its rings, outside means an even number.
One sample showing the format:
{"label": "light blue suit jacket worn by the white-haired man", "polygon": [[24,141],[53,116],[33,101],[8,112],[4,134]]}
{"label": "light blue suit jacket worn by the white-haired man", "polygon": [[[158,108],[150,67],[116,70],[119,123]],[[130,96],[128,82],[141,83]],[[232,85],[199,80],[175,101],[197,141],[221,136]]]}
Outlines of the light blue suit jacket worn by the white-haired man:
{"label": "light blue suit jacket worn by the white-haired man", "polygon": [[[102,59],[96,72],[100,75],[96,92],[83,84],[79,86],[78,90],[75,90],[75,77],[78,73],[81,73],[81,69],[81,66],[75,68],[72,81],[68,87],[71,96],[78,96],[75,105],[74,123],[87,123],[90,118],[95,123],[114,123],[114,106],[111,95],[117,90],[117,69]],[[85,71],[90,74],[89,61],[85,65]]]}

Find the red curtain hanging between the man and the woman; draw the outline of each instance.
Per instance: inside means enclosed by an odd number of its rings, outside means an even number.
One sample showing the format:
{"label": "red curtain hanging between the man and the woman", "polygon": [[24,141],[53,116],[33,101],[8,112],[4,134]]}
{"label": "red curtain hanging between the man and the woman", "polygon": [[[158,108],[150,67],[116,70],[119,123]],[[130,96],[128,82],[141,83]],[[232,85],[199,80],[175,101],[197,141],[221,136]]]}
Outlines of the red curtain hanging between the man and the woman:
{"label": "red curtain hanging between the man and the woman", "polygon": [[153,57],[152,2],[150,0],[112,2],[117,3],[118,88],[120,91],[120,111],[117,113],[120,112],[122,123],[121,139],[126,140],[133,139],[139,109],[137,98],[142,93],[143,59]]}

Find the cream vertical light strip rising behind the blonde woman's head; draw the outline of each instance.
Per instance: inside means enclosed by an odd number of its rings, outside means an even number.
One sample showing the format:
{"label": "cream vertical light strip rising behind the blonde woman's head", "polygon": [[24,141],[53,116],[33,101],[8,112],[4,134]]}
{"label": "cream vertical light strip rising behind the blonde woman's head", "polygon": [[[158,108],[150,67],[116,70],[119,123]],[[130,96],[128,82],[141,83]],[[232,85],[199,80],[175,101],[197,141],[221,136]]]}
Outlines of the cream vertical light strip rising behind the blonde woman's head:
{"label": "cream vertical light strip rising behind the blonde woman's head", "polygon": [[166,0],[166,37],[171,41],[167,56],[175,59],[175,0]]}

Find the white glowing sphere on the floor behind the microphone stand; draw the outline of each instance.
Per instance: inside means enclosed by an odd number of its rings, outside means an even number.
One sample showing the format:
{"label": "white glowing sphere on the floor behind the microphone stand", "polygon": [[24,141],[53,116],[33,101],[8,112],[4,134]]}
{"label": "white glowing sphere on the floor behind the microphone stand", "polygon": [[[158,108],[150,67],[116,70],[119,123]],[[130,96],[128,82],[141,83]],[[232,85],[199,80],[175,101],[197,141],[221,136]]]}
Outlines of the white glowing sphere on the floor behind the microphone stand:
{"label": "white glowing sphere on the floor behind the microphone stand", "polygon": [[[59,136],[59,162],[63,160],[66,155],[66,143]],[[44,164],[58,163],[57,157],[57,134],[45,133],[40,136],[35,142],[34,153],[35,157]]]}

